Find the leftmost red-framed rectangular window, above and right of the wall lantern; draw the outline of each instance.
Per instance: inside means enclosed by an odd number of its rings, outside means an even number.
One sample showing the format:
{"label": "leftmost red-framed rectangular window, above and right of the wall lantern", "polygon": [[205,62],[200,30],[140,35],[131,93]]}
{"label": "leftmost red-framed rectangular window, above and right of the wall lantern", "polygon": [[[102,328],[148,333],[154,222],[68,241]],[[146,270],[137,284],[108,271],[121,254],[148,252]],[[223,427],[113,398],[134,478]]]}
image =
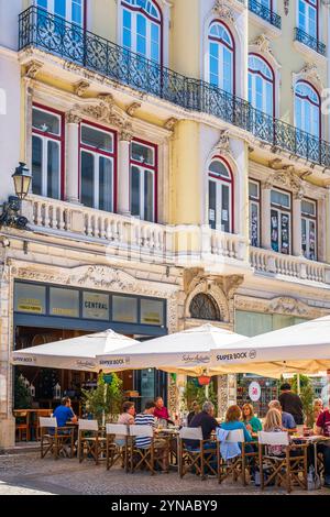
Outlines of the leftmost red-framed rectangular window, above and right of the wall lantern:
{"label": "leftmost red-framed rectangular window, above and right of the wall lantern", "polygon": [[36,106],[32,111],[32,193],[63,197],[63,116]]}

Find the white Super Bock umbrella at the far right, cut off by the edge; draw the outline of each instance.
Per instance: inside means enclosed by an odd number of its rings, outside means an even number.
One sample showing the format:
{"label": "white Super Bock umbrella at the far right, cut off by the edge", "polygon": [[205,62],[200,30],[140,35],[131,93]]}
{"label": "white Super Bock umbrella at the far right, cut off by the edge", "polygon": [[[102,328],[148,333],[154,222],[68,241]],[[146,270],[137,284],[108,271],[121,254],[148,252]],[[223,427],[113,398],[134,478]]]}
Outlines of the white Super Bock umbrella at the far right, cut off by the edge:
{"label": "white Super Bock umbrella at the far right, cut off by the edge", "polygon": [[318,373],[330,369],[330,316],[267,332],[212,351],[211,372]]}

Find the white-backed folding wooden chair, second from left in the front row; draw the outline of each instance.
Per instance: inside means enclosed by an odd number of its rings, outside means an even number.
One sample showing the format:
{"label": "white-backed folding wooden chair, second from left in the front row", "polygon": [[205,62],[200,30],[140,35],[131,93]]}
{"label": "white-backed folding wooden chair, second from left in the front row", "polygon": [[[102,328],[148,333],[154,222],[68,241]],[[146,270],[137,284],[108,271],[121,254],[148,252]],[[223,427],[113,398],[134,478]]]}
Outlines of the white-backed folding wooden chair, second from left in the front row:
{"label": "white-backed folding wooden chair, second from left in the front row", "polygon": [[106,458],[106,438],[101,436],[97,420],[78,421],[78,459],[81,463],[88,455],[92,457],[96,464],[100,458]]}

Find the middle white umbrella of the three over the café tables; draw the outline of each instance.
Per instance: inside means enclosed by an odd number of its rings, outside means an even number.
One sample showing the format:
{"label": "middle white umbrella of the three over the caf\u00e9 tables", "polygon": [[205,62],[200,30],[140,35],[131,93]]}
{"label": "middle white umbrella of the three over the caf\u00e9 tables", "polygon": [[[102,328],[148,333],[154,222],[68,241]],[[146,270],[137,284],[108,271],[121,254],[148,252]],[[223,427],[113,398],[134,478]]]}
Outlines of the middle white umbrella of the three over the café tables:
{"label": "middle white umbrella of the three over the caf\u00e9 tables", "polygon": [[204,324],[102,354],[98,360],[100,367],[106,370],[155,367],[165,372],[196,375],[209,369],[211,349],[228,350],[232,343],[245,339],[230,330]]}

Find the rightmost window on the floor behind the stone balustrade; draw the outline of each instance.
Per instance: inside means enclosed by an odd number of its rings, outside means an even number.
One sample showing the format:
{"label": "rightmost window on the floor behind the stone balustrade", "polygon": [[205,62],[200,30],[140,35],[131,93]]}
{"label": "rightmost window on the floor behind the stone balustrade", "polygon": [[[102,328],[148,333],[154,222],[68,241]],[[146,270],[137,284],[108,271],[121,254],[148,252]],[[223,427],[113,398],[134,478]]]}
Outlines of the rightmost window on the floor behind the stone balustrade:
{"label": "rightmost window on the floor behind the stone balustrade", "polygon": [[301,248],[306,258],[317,261],[317,202],[301,201]]}

